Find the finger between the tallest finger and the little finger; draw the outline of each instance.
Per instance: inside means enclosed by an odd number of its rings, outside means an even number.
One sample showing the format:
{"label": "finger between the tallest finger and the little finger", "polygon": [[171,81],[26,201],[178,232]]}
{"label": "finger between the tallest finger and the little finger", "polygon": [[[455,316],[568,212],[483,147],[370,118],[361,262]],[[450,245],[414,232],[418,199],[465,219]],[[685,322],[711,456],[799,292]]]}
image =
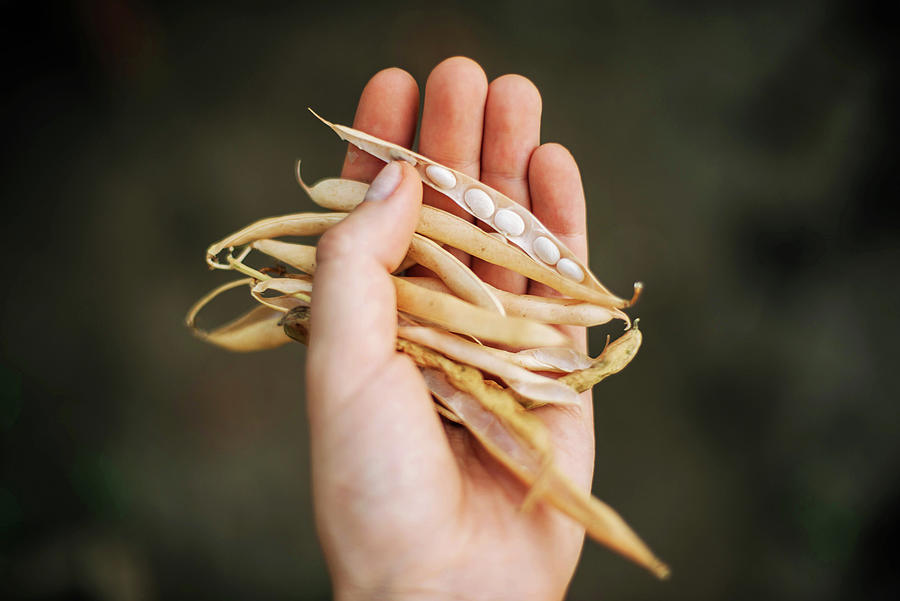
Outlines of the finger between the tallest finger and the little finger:
{"label": "finger between the tallest finger and the little finger", "polygon": [[[491,82],[484,114],[481,181],[529,207],[528,162],[541,138],[541,95],[521,75]],[[473,270],[488,284],[521,294],[523,276],[473,260]]]}

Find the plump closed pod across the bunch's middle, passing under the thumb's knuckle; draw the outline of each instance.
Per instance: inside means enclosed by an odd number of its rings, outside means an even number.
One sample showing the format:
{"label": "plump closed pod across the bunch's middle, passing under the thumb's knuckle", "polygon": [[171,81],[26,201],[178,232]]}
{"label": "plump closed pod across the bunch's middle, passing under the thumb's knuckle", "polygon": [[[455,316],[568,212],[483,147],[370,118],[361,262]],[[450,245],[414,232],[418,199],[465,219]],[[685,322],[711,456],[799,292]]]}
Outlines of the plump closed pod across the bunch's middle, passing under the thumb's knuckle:
{"label": "plump closed pod across the bunch's middle, passing under the thumb's knuckle", "polygon": [[[252,246],[291,267],[309,274],[315,273],[316,249],[312,246],[280,240],[257,240]],[[391,281],[397,291],[398,309],[451,332],[515,348],[571,345],[571,340],[565,334],[548,325],[521,317],[500,315],[450,294],[428,290],[395,276],[391,276]]]}

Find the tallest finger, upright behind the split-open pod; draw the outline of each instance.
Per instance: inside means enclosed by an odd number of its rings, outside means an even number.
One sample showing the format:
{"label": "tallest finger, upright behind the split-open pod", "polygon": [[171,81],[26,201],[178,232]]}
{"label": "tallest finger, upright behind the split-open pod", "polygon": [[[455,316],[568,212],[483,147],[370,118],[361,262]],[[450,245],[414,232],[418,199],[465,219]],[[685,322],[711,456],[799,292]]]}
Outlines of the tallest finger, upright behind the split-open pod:
{"label": "tallest finger, upright behind the split-open pod", "polygon": [[[484,71],[468,58],[455,56],[435,67],[425,84],[419,152],[477,179],[487,87]],[[426,189],[424,202],[472,220],[466,211],[436,190]],[[470,263],[467,254],[456,249],[451,252],[466,265]],[[410,274],[424,275],[421,269],[410,270]]]}

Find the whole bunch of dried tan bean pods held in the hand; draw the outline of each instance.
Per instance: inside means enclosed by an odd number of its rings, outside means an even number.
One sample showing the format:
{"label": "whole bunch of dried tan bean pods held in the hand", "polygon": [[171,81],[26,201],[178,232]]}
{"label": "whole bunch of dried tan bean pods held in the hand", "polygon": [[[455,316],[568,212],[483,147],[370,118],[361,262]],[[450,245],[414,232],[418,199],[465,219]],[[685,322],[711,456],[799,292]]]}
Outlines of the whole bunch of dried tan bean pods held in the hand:
{"label": "whole bunch of dried tan bean pods held in the hand", "polygon": [[[369,154],[384,161],[408,162],[425,185],[499,233],[487,233],[466,220],[423,205],[398,273],[420,264],[437,277],[392,276],[399,320],[397,349],[420,366],[434,395],[435,409],[468,428],[494,457],[531,487],[523,510],[534,502],[546,501],[580,522],[595,540],[665,578],[668,567],[625,521],[556,469],[547,428],[528,412],[543,405],[574,405],[578,393],[621,371],[631,361],[640,347],[641,332],[622,309],[636,300],[640,284],[635,284],[630,300],[613,295],[534,215],[497,190],[406,148],[319,119]],[[210,246],[206,261],[211,267],[237,271],[246,277],[220,286],[191,308],[187,324],[199,337],[233,351],[274,348],[291,339],[306,343],[316,249],[276,238],[324,233],[362,202],[368,185],[335,178],[309,187],[300,176],[299,162],[297,180],[316,204],[337,212],[264,219]],[[565,297],[498,290],[481,281],[442,245],[511,269]],[[243,248],[235,256],[238,247]],[[245,263],[253,250],[300,273],[258,271]],[[223,252],[224,263],[219,259]],[[242,286],[250,289],[260,306],[211,332],[196,327],[196,315],[204,305],[222,292]],[[626,332],[607,344],[596,359],[567,346],[568,338],[552,327],[593,326],[612,319],[623,320]],[[491,343],[524,350],[501,350],[489,346]],[[562,375],[544,375],[547,373]],[[484,374],[508,388],[485,379]]]}

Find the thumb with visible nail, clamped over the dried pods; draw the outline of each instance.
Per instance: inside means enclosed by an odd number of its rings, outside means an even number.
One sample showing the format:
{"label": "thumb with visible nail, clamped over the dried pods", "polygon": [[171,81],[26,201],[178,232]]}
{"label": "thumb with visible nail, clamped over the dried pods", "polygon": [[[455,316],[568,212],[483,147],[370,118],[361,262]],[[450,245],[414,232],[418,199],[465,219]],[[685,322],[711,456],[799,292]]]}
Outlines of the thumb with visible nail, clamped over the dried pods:
{"label": "thumb with visible nail, clamped over the dried pods", "polygon": [[389,274],[406,254],[421,202],[416,171],[390,163],[365,200],[319,240],[307,373],[326,399],[358,391],[359,380],[395,353],[397,301]]}

